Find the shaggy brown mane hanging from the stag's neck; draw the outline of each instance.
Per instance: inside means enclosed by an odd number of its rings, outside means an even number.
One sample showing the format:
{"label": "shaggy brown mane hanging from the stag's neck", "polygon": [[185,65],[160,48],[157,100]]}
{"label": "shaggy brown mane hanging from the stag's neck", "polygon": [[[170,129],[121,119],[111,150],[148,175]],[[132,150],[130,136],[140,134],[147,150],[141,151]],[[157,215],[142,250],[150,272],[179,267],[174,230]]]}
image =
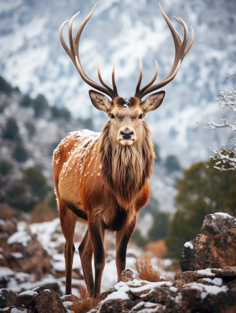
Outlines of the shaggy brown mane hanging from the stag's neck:
{"label": "shaggy brown mane hanging from the stag's neck", "polygon": [[109,135],[110,121],[100,137],[100,155],[103,179],[110,184],[117,198],[131,203],[152,173],[154,161],[150,130],[143,121],[143,133],[137,143],[117,144]]}

